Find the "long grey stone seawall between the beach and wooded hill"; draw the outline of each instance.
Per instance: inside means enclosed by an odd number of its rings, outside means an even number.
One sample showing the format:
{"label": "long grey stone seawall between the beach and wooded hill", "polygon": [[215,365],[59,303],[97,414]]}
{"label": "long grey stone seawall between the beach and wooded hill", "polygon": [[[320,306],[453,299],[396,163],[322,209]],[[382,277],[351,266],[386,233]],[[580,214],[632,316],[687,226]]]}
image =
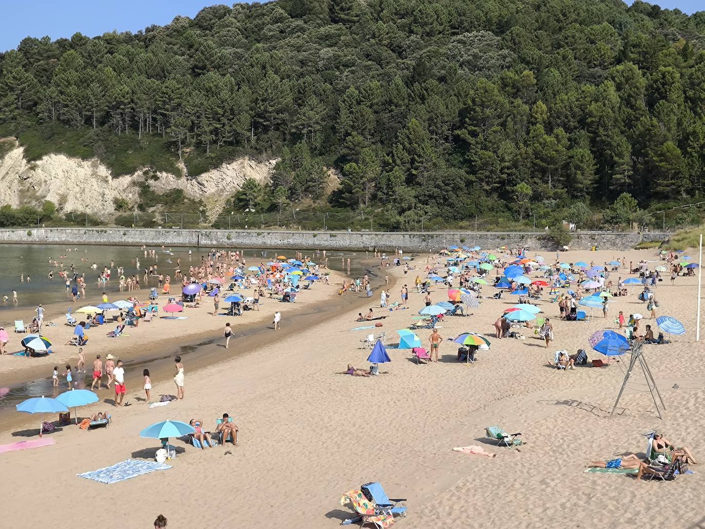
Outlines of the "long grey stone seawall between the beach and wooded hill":
{"label": "long grey stone seawall between the beach and wooded hill", "polygon": [[[571,250],[627,250],[644,241],[663,241],[670,233],[579,231],[572,233]],[[472,233],[466,231],[386,233],[369,231],[256,231],[180,230],[133,228],[0,229],[0,243],[115,244],[190,246],[200,248],[320,248],[321,250],[396,250],[428,252],[448,245],[481,248],[529,245],[536,250],[556,250],[544,233]]]}

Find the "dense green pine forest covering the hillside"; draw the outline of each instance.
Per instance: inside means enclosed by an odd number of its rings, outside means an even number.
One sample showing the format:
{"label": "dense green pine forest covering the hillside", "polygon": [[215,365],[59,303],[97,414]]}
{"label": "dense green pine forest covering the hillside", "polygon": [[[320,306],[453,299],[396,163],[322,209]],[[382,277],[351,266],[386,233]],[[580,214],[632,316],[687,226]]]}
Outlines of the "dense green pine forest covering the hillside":
{"label": "dense green pine forest covering the hillside", "polygon": [[0,56],[0,133],[115,174],[281,156],[228,210],[660,226],[656,210],[704,193],[704,35],[705,12],[638,0],[212,6],[136,34],[23,39]]}

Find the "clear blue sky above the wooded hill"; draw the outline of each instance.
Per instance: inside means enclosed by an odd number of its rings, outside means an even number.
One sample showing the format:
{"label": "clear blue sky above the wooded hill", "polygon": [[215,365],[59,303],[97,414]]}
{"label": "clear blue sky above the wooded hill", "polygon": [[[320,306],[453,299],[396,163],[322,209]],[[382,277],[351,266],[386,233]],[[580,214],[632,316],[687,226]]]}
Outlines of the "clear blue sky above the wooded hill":
{"label": "clear blue sky above the wooded hill", "polygon": [[[631,4],[633,0],[627,0]],[[685,13],[705,9],[704,0],[658,0],[663,8]],[[232,5],[233,0],[6,0],[2,6],[0,51],[14,49],[25,37],[51,39],[81,32],[87,37],[118,30],[164,25],[177,15],[193,18],[204,6]]]}

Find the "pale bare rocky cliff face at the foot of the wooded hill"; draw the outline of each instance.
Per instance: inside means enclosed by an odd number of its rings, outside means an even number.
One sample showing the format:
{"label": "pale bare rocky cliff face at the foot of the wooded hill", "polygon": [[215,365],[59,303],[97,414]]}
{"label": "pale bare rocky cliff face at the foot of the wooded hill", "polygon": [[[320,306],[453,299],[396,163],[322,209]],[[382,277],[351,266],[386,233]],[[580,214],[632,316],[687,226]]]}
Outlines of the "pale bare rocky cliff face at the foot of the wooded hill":
{"label": "pale bare rocky cliff face at the foot of the wooded hill", "polygon": [[[130,205],[139,201],[139,185],[145,181],[144,170],[113,177],[96,158],[82,160],[63,154],[49,154],[35,162],[27,162],[23,147],[13,139],[4,141],[13,142],[13,148],[0,159],[2,205],[41,206],[44,200],[51,200],[59,212],[86,212],[109,221],[115,213],[115,199],[122,198]],[[214,217],[228,197],[242,187],[246,178],[268,183],[277,161],[257,162],[242,158],[193,178],[157,173],[156,180],[147,178],[146,181],[157,193],[183,189],[189,197],[203,200],[208,216]],[[184,166],[182,171],[186,174]]]}

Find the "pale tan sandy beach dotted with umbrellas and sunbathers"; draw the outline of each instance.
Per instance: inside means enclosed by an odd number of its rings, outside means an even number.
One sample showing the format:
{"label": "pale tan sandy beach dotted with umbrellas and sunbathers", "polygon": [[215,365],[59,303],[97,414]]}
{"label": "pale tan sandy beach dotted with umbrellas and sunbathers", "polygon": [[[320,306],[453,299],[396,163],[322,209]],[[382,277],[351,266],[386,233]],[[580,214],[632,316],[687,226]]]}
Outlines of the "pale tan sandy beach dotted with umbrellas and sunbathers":
{"label": "pale tan sandy beach dotted with umbrellas and sunbathers", "polygon": [[[544,255],[553,260],[553,255]],[[649,263],[651,268],[658,264],[656,250],[567,252],[560,260],[601,264],[623,256],[627,262],[654,261]],[[421,269],[410,270],[406,277],[401,267],[377,271],[380,277],[388,274],[396,281],[391,301],[400,300],[404,283],[412,286],[415,276],[426,275],[422,270],[425,256],[410,264]],[[629,274],[626,269],[613,273],[615,284],[617,276]],[[484,286],[482,296],[495,291]],[[168,518],[170,529],[203,523],[334,528],[353,517],[348,506],[338,504],[341,495],[362,483],[379,481],[389,497],[407,499],[408,516],[396,521],[398,528],[485,527],[489,523],[530,528],[699,527],[705,524],[701,494],[705,472],[701,468],[705,467],[692,466],[694,475],[679,476],[670,483],[584,473],[585,463],[591,460],[626,453],[643,455],[646,438],[642,434],[654,429],[705,459],[701,413],[705,406],[701,356],[705,351],[701,342],[695,342],[697,277],[679,276],[672,286],[665,276],[656,288],[657,315],[677,317],[687,329],[670,344],[644,348],[666,403],[663,420],[658,419],[640,370],[633,373],[615,416],[608,418],[624,377],[623,361],[607,368],[588,363],[560,372],[548,365],[558,349],[575,353],[584,348],[590,359],[604,358],[591,351],[587,339],[596,330],[615,329],[613,320],[620,310],[625,315],[642,313],[642,327],[651,324],[657,332],[655,320],[648,319],[646,304],[637,299],[638,291],[635,288],[631,293],[630,288],[630,296],[614,298],[607,319],[601,310],[594,310],[589,322],[558,320],[558,304],[544,293],[537,305],[551,318],[555,334],[548,348],[530,329],[523,329],[524,340],[495,339],[494,321],[517,303],[517,296],[484,299],[480,308],[470,310],[470,317],[446,317],[439,324],[444,338],[441,361],[417,365],[409,349],[388,348],[392,362],[380,365],[378,377],[338,373],[348,363],[369,367],[369,351],[360,349],[365,334],[384,331],[388,343],[398,342],[396,329],[417,321],[413,316],[424,306],[423,295],[410,289],[407,310],[387,311],[379,308],[376,288],[369,303],[374,312],[387,316],[381,320],[384,326],[351,331],[364,325],[355,322],[355,317],[366,300],[348,293],[355,303],[338,315],[299,320],[283,339],[247,346],[247,354],[233,354],[214,365],[198,370],[189,370],[187,365],[183,401],[149,409],[134,400],[141,390],[132,384],[128,397],[134,405],[113,408],[109,406],[111,392],[102,390],[99,396],[105,401],[80,409],[79,415],[106,409],[113,416],[108,428],[85,432],[63,427],[51,434],[56,444],[0,454],[4,482],[13,484],[4,494],[6,523],[8,527],[25,525],[29,513],[41,506],[42,513],[53,513],[51,525],[56,528],[96,524],[107,529],[151,528],[159,513]],[[301,303],[326,303],[336,295],[333,286],[315,285]],[[431,298],[434,303],[447,300],[446,288],[436,287]],[[273,305],[265,304],[259,315],[247,313],[247,325],[271,317]],[[287,305],[276,304],[285,322],[285,310],[303,308],[299,303]],[[129,355],[136,343],[188,339],[187,328],[191,327],[197,329],[195,333],[219,336],[224,318],[206,314],[211,308],[207,301],[204,308],[188,312],[188,326],[178,327],[178,338],[172,326],[184,323],[178,320],[130,329],[123,354]],[[50,329],[56,330],[56,341],[61,341],[61,333],[70,332],[63,325]],[[94,351],[107,352],[114,346],[105,336],[109,329],[98,330],[90,335],[99,343],[85,350],[87,360]],[[479,351],[477,362],[471,365],[458,363],[457,344],[447,340],[465,331],[482,333],[491,341],[490,350]],[[430,333],[428,329],[417,331],[426,348]],[[238,339],[231,341],[233,348],[238,351]],[[54,364],[61,365],[61,355],[75,357],[72,349],[52,355],[46,364],[47,375]],[[0,358],[0,374],[7,373],[14,360]],[[171,379],[164,378],[153,384],[152,392],[174,394],[174,388]],[[240,428],[238,446],[202,451],[172,439],[179,454],[168,461],[172,466],[168,470],[114,485],[77,477],[126,458],[154,458],[159,443],[138,435],[154,422],[197,418],[204,420],[206,430],[214,430],[216,418],[223,413],[232,415]],[[36,437],[36,418],[16,415],[21,424],[4,425],[0,444]],[[492,444],[484,439],[484,429],[491,425],[522,432],[527,444],[520,450]],[[497,456],[453,451],[455,446],[467,445],[482,446]],[[27,480],[27,473],[36,475],[41,484]],[[100,513],[96,505],[106,506],[106,513]]]}

